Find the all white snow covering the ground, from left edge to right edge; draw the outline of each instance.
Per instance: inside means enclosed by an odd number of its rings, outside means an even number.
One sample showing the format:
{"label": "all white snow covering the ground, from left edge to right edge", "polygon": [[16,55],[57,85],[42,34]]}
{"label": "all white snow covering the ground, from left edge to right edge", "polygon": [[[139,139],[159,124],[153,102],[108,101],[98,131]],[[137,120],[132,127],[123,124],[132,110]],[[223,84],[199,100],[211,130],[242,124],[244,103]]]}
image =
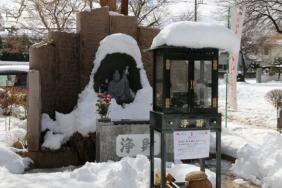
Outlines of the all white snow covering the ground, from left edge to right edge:
{"label": "all white snow covering the ground, from left edge to right edge", "polygon": [[[282,82],[258,84],[255,80],[247,80],[237,83],[238,111],[228,110],[225,128],[226,85],[219,81],[219,111],[223,114],[221,153],[238,159],[232,165],[221,160],[221,173],[237,176],[239,185],[245,184],[239,178],[262,187],[278,188],[282,183],[282,135],[273,130],[277,126],[276,108],[264,99],[267,91],[276,88],[282,89]],[[149,187],[149,160],[143,155],[125,157],[117,162],[87,162],[83,166],[29,170],[26,167],[30,160],[22,159],[8,147],[13,139],[23,139],[25,133],[26,120],[12,117],[10,131],[5,131],[5,117],[0,115],[0,187]],[[212,134],[211,152],[214,143]],[[215,161],[207,163],[213,166]],[[160,159],[155,158],[155,172],[160,172],[159,164]],[[198,166],[175,161],[167,163],[167,172],[181,182],[187,173],[199,170]],[[210,170],[206,173],[214,185],[214,166]]]}

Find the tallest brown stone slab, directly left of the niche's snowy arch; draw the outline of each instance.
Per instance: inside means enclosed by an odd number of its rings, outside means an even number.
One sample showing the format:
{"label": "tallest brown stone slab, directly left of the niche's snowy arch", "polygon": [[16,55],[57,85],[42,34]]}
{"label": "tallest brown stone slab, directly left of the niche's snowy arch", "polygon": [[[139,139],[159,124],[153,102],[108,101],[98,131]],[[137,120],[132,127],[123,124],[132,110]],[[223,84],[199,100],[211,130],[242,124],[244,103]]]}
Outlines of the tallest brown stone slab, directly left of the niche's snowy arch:
{"label": "tallest brown stone slab, directly left of the niche's snowy arch", "polygon": [[76,32],[79,33],[80,91],[89,82],[93,61],[99,43],[109,35],[109,7],[83,11],[76,14]]}

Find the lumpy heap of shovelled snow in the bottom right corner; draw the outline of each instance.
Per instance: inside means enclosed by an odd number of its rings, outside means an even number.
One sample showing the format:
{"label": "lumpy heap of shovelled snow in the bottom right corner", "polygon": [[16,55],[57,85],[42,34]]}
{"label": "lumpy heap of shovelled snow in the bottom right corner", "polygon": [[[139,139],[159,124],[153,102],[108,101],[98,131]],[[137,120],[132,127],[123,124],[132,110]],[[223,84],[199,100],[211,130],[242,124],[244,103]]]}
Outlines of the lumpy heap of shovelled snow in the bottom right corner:
{"label": "lumpy heap of shovelled snow in the bottom right corner", "polygon": [[[246,143],[239,149],[238,160],[230,168],[235,175],[263,187],[281,185],[282,136],[275,131],[269,134],[261,147]],[[255,171],[254,171],[255,169]],[[263,182],[261,182],[263,181]]]}

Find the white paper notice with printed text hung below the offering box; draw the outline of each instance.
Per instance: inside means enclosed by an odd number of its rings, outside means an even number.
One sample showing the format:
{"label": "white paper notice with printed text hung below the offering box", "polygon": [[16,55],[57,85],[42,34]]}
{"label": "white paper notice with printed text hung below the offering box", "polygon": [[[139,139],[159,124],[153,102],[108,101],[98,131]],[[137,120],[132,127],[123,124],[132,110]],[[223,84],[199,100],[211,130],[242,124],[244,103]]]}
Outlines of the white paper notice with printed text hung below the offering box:
{"label": "white paper notice with printed text hung below the offering box", "polygon": [[174,131],[174,159],[209,157],[210,130]]}

